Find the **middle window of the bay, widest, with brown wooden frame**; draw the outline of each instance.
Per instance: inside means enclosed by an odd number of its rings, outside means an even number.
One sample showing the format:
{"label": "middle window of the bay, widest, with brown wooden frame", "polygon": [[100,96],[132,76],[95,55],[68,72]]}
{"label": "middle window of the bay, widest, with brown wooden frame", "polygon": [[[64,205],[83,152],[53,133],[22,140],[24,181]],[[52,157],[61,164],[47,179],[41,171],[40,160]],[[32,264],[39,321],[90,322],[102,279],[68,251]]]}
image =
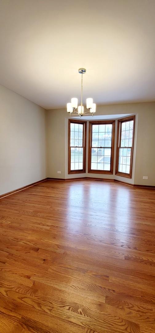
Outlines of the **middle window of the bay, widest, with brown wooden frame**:
{"label": "middle window of the bay, widest, with brown wooden frame", "polygon": [[113,173],[115,120],[89,122],[88,172]]}

